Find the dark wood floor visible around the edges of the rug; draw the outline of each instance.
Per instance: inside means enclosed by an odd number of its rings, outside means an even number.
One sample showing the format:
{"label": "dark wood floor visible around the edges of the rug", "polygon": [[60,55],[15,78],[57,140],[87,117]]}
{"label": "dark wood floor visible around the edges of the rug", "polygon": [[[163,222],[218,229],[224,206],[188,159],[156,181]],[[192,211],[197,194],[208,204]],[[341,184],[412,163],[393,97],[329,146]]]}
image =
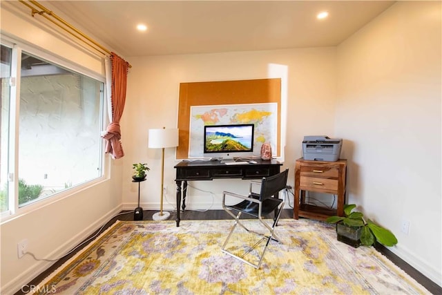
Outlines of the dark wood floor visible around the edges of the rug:
{"label": "dark wood floor visible around the edges of the rug", "polygon": [[[143,220],[152,220],[152,216],[157,211],[150,211],[145,210],[143,212]],[[185,222],[184,220],[221,220],[221,219],[232,219],[229,214],[224,212],[224,210],[208,210],[208,211],[184,211],[180,213],[181,218],[181,224],[182,222]],[[281,213],[280,218],[293,218],[293,209],[284,209]],[[169,217],[169,220],[175,220],[176,219],[176,212],[171,212],[171,216]],[[104,229],[110,227],[113,225],[113,223],[116,220],[133,220],[133,211],[125,211],[122,212],[121,215],[112,218],[109,220],[106,225],[101,229],[101,231],[104,231]],[[100,231],[100,232],[101,232]],[[95,232],[91,237],[98,235],[99,232]],[[41,280],[44,280],[47,276],[49,276],[52,272],[55,271],[59,266],[61,266],[63,263],[65,263],[69,258],[75,255],[77,251],[82,249],[83,247],[86,247],[88,243],[85,243],[84,245],[81,245],[81,247],[78,247],[76,251],[74,251],[71,254],[68,254],[64,258],[61,258],[58,260],[55,264],[53,264],[49,269],[46,269],[45,272],[39,274],[34,280],[32,280],[28,285],[37,285],[41,282]],[[404,272],[412,276],[417,282],[419,282],[421,285],[423,285],[425,288],[427,288],[428,291],[430,291],[432,294],[442,294],[442,287],[434,283],[432,280],[426,278],[418,272],[416,269],[414,269],[411,265],[405,263],[405,261],[401,260],[401,258],[398,258],[395,254],[393,254],[390,250],[383,247],[382,245],[376,245],[376,249],[383,253],[387,258],[392,260],[394,264],[396,264],[398,267],[403,269]],[[15,293],[16,295],[23,294],[23,292],[19,291]]]}

